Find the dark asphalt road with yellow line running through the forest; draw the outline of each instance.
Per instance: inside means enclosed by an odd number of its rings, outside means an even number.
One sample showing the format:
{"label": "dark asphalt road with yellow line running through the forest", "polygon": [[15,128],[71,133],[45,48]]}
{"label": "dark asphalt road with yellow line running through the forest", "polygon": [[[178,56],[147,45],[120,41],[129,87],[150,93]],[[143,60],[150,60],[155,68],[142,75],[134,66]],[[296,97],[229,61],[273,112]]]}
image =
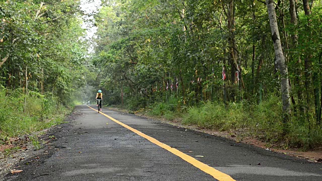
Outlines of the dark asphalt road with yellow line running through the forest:
{"label": "dark asphalt road with yellow line running through the forest", "polygon": [[69,123],[44,135],[48,143],[17,165],[23,171],[6,180],[322,180],[320,163],[130,114],[103,113],[77,107]]}

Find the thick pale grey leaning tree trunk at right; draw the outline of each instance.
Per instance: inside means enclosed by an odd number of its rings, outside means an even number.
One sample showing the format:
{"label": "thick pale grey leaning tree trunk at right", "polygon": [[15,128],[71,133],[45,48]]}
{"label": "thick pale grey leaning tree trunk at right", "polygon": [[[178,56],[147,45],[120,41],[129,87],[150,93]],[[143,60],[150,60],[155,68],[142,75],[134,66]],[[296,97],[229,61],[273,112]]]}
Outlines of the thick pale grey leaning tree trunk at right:
{"label": "thick pale grey leaning tree trunk at right", "polygon": [[275,6],[273,0],[266,0],[266,6],[268,10],[272,39],[274,42],[274,50],[278,68],[281,73],[281,94],[282,94],[282,104],[283,104],[283,113],[284,113],[284,123],[288,121],[291,114],[290,109],[290,90],[288,84],[288,69],[285,63],[285,58],[282,50],[278,25],[276,21]]}

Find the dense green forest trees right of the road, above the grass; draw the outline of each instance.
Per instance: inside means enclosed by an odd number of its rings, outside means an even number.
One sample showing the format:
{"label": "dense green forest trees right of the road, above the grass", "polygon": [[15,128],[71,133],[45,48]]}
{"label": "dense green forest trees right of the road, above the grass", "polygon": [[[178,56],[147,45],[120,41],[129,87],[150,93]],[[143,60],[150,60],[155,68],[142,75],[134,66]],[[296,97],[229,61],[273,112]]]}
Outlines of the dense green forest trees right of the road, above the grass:
{"label": "dense green forest trees right of the road, above the grass", "polygon": [[[303,144],[321,143],[316,134],[322,108],[321,3],[275,1],[288,68],[286,77],[281,77],[265,1],[102,1],[96,16],[95,86],[104,89],[108,104],[125,104],[133,110],[153,104],[165,108],[174,99],[171,107],[176,111],[208,101],[217,105],[211,109],[228,113],[232,103],[244,107],[239,111],[244,115],[268,109],[277,114],[271,119],[279,125],[278,139],[292,137],[293,126],[304,125],[301,136],[314,141]],[[276,112],[283,100],[272,99],[281,98],[285,78],[290,85],[288,119],[282,108]],[[202,110],[197,112],[202,115]],[[263,118],[255,113],[250,118],[260,122],[254,119]],[[209,117],[209,122],[224,118]]]}

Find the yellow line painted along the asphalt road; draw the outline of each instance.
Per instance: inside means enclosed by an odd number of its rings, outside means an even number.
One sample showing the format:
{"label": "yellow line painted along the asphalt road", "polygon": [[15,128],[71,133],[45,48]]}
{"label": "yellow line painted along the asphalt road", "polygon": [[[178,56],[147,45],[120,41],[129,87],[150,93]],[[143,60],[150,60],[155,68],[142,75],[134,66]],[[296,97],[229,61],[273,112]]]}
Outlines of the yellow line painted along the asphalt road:
{"label": "yellow line painted along the asphalt road", "polygon": [[[90,106],[88,106],[88,107],[91,108]],[[91,108],[91,109],[94,110],[94,111],[97,111],[97,110],[95,110],[93,108]],[[133,131],[134,133],[136,133],[136,134],[138,134],[140,136],[142,136],[143,138],[149,140],[150,142],[152,142],[152,143],[154,143],[154,144],[156,144],[156,145],[158,145],[158,146],[170,151],[171,153],[179,156],[180,158],[182,158],[183,160],[187,161],[188,163],[194,165],[195,167],[199,168],[200,170],[210,174],[211,176],[213,176],[217,180],[220,180],[220,181],[234,180],[233,178],[231,178],[231,176],[227,175],[226,173],[223,173],[223,172],[221,172],[219,170],[216,170],[215,168],[213,168],[213,167],[211,167],[211,166],[209,166],[209,165],[207,165],[207,164],[205,164],[205,163],[203,163],[201,161],[196,160],[192,156],[189,156],[189,155],[187,155],[187,154],[185,154],[185,153],[183,153],[183,152],[181,152],[181,151],[179,151],[179,150],[177,150],[175,148],[172,148],[171,146],[168,146],[168,145],[166,145],[166,144],[164,144],[162,142],[159,142],[155,138],[152,138],[152,137],[150,137],[150,136],[148,136],[148,135],[146,135],[146,134],[144,134],[144,133],[142,133],[142,132],[140,132],[140,131],[138,131],[138,130],[136,130],[136,129],[134,129],[134,128],[132,128],[132,127],[130,127],[130,126],[128,126],[128,125],[126,125],[126,124],[124,124],[124,123],[122,123],[122,122],[120,122],[120,121],[118,121],[118,120],[106,115],[106,114],[104,114],[104,113],[102,113],[102,112],[101,112],[101,114],[104,115],[105,117],[109,118],[110,120],[114,121],[115,123],[117,123],[117,124],[127,128],[127,129]]]}

